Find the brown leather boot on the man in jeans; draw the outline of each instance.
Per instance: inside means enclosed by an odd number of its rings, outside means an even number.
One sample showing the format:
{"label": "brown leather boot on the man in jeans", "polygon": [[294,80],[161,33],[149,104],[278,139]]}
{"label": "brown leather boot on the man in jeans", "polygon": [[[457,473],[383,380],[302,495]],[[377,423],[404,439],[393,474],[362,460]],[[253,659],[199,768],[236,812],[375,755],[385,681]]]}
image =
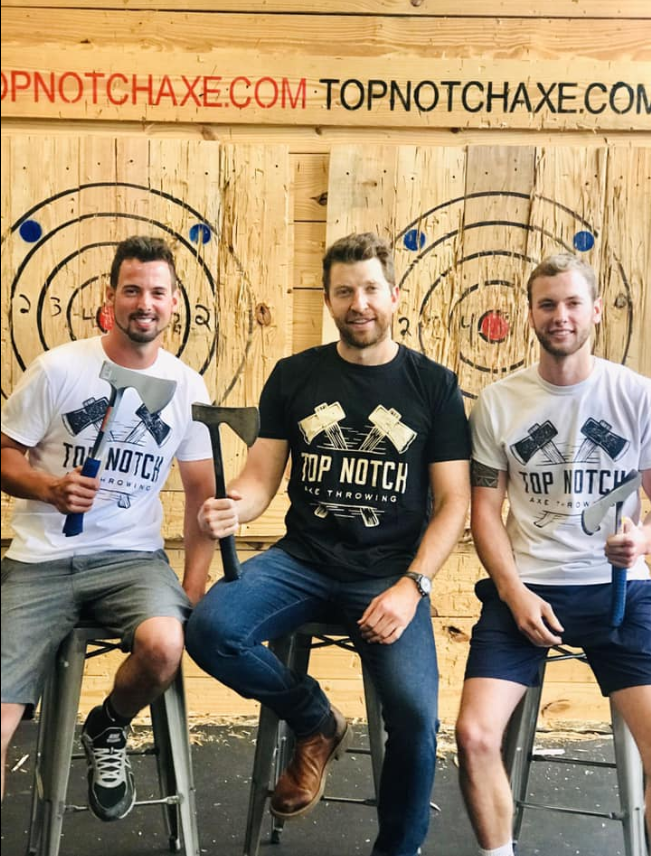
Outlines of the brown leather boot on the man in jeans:
{"label": "brown leather boot on the man in jeans", "polygon": [[323,796],[328,767],[333,759],[344,754],[352,737],[343,714],[335,707],[332,712],[337,723],[334,737],[317,732],[296,741],[292,760],[271,797],[271,813],[276,817],[283,820],[303,817]]}

